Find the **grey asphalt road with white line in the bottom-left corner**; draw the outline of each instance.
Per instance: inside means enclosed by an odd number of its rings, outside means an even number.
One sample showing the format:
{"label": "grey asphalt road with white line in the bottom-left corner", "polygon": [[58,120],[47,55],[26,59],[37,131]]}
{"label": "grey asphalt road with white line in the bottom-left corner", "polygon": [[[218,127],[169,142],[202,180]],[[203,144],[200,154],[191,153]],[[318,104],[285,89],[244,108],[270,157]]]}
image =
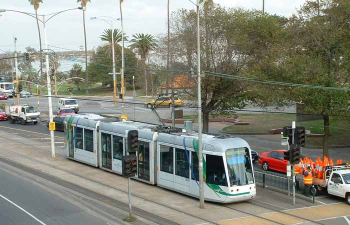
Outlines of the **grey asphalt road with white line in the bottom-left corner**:
{"label": "grey asphalt road with white line in the bottom-left corner", "polygon": [[1,225],[108,224],[19,176],[0,169]]}

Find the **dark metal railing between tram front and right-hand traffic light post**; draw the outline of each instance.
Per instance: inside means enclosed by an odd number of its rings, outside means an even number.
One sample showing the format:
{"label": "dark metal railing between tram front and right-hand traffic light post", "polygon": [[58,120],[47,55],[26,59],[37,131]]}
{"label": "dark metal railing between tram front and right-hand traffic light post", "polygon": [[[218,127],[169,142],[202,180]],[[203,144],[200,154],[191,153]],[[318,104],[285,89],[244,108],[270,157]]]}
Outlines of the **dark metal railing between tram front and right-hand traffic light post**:
{"label": "dark metal railing between tram front and right-hand traffic light post", "polygon": [[[273,186],[287,190],[292,185],[291,178],[283,175],[275,175],[267,172],[254,171],[255,182],[262,183],[263,187]],[[289,182],[289,185],[288,185]]]}

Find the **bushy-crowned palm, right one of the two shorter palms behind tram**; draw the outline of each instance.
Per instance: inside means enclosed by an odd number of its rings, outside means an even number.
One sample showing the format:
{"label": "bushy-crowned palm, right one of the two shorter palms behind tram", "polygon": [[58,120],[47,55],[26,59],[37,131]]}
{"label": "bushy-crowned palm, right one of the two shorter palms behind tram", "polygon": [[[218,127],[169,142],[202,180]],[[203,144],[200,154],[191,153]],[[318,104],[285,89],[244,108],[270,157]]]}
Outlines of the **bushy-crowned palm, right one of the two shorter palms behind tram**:
{"label": "bushy-crowned palm, right one of the two shorter palms behind tram", "polygon": [[144,64],[144,83],[145,83],[145,94],[148,94],[147,91],[147,71],[146,71],[146,58],[148,58],[149,51],[155,49],[157,47],[157,40],[151,34],[144,33],[135,33],[132,34],[134,39],[131,40],[133,42],[130,45],[130,49],[137,48],[138,54],[141,56],[141,59]]}

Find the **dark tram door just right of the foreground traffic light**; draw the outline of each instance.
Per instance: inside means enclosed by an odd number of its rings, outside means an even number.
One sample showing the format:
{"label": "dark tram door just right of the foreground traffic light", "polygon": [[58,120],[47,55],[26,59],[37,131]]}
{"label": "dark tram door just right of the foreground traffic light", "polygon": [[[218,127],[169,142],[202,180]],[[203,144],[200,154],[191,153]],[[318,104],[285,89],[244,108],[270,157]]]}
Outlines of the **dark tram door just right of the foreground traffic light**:
{"label": "dark tram door just right of the foreground traffic light", "polygon": [[138,141],[137,177],[149,181],[149,142]]}

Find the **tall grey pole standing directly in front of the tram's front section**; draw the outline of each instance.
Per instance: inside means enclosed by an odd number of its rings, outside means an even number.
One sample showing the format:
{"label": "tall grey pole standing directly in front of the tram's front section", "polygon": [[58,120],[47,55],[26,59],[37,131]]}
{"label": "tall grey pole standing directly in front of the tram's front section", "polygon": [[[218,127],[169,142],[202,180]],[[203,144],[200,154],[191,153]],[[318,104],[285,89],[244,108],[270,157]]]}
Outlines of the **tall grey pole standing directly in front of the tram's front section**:
{"label": "tall grey pole standing directly in front of the tram's front section", "polygon": [[204,208],[203,153],[201,142],[201,95],[200,95],[200,35],[199,0],[197,0],[197,100],[198,100],[198,169],[199,169],[199,208]]}

